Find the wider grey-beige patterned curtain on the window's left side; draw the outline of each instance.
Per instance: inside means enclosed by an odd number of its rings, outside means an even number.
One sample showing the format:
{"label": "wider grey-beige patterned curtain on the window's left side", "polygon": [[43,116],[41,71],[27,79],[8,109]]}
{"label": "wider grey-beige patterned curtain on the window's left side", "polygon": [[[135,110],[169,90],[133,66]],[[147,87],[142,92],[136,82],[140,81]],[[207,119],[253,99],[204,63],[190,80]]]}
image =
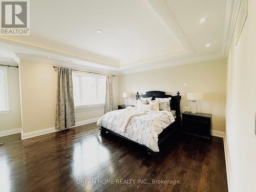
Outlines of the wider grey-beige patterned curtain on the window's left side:
{"label": "wider grey-beige patterned curtain on the window's left side", "polygon": [[73,95],[72,70],[57,68],[56,130],[75,125],[75,107]]}

